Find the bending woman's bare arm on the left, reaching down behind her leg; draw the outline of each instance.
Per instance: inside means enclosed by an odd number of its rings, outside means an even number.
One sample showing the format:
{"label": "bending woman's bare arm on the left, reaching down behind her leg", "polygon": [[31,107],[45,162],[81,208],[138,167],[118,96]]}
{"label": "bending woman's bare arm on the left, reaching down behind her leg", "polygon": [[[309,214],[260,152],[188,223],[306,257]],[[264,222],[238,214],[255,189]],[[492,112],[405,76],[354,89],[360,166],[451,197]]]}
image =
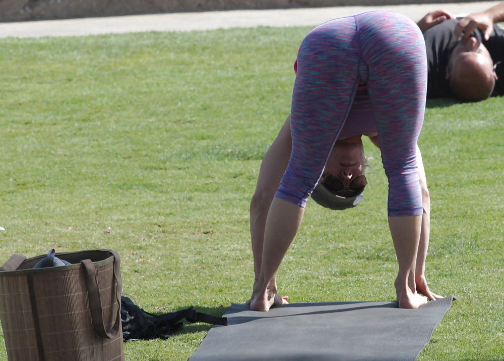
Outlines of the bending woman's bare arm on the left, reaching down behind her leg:
{"label": "bending woman's bare arm on the left, reaching down behind her leg", "polygon": [[[289,115],[282,129],[280,129],[277,138],[264,156],[259,171],[256,191],[250,202],[250,237],[252,240],[252,252],[254,254],[254,273],[256,275],[254,285],[257,283],[261,270],[266,218],[280,180],[289,163],[291,148],[292,138],[290,135]],[[254,294],[252,297],[254,297]],[[250,301],[251,299],[248,302]]]}

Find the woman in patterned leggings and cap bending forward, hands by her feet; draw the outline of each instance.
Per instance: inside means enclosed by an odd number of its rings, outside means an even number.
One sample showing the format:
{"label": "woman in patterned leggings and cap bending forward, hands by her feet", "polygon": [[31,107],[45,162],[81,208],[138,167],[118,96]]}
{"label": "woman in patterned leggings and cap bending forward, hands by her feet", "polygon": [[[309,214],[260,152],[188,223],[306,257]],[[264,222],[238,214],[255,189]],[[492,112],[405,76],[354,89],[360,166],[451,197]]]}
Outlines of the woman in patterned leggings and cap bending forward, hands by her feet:
{"label": "woman in patterned leggings and cap bending forward, hands by her feet", "polygon": [[362,199],[362,135],[381,148],[389,180],[399,307],[439,298],[424,276],[430,200],[417,139],[427,61],[418,26],[385,11],[335,19],[304,38],[295,67],[291,115],[266,153],[250,204],[256,274],[251,310],[287,303],[277,292],[276,272],[310,194],[338,210]]}

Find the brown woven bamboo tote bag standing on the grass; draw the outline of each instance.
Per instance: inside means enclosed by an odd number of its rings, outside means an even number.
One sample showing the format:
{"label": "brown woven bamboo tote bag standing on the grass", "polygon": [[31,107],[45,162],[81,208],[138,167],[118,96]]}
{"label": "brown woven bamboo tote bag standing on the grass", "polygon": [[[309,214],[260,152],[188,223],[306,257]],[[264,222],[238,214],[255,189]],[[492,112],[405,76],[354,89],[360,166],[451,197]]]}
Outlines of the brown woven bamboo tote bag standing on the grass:
{"label": "brown woven bamboo tote bag standing on the grass", "polygon": [[115,250],[58,253],[69,266],[34,269],[14,254],[0,268],[0,321],[9,361],[123,361]]}

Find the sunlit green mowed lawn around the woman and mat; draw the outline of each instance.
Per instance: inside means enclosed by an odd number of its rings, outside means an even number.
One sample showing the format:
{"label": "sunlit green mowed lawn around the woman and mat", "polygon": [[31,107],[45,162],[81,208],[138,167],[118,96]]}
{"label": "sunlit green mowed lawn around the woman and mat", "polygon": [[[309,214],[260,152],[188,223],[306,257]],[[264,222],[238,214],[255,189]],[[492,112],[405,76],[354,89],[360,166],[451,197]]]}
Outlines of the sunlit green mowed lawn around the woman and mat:
{"label": "sunlit green mowed lawn around the woman and mat", "polygon": [[[0,261],[114,248],[146,311],[222,315],[246,301],[249,201],[309,30],[0,40]],[[502,98],[428,102],[427,278],[458,299],[421,361],[504,359],[503,120]],[[395,298],[388,184],[365,147],[375,171],[360,207],[308,202],[278,274],[292,302]],[[209,329],[126,343],[127,359],[186,360]]]}

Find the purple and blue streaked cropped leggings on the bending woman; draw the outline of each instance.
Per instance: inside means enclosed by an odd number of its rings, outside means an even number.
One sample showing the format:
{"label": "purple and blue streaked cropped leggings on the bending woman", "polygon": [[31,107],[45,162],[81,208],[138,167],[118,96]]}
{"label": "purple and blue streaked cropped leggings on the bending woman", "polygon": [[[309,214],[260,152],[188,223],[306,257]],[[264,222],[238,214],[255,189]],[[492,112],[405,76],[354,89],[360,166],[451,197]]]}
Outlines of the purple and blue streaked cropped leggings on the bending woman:
{"label": "purple and blue streaked cropped leggings on the bending woman", "polygon": [[389,216],[421,215],[416,143],[425,112],[425,43],[413,21],[387,11],[331,20],[304,38],[292,94],[292,153],[275,196],[305,207],[362,84],[389,179]]}

